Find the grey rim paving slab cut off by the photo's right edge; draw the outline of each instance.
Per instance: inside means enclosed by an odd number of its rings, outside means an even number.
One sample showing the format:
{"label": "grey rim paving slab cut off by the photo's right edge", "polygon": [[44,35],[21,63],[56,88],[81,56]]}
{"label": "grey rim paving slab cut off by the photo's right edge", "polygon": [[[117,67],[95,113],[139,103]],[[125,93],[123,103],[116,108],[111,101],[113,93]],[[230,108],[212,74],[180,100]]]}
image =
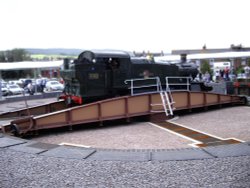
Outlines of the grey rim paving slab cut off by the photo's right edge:
{"label": "grey rim paving slab cut off by the photo's right edge", "polygon": [[230,144],[223,146],[205,147],[203,149],[216,157],[250,155],[250,146],[247,144]]}

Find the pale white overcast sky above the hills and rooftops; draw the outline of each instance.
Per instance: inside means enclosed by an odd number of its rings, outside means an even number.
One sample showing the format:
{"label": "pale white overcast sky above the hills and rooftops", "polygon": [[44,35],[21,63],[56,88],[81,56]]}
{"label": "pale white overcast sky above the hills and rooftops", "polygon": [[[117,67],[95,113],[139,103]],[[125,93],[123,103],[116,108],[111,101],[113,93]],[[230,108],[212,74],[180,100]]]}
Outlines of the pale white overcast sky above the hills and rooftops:
{"label": "pale white overcast sky above the hills and rooftops", "polygon": [[0,50],[250,46],[249,0],[0,0]]}

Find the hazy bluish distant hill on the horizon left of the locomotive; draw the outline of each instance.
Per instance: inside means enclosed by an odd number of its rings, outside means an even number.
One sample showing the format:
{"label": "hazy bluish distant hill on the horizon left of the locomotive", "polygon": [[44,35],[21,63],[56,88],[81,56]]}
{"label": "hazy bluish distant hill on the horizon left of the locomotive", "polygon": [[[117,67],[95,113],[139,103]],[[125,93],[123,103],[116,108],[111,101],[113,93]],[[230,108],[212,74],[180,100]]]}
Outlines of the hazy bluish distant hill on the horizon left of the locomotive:
{"label": "hazy bluish distant hill on the horizon left of the locomotive", "polygon": [[77,56],[83,50],[82,49],[71,49],[71,48],[25,48],[29,54],[44,54],[44,55],[71,55]]}

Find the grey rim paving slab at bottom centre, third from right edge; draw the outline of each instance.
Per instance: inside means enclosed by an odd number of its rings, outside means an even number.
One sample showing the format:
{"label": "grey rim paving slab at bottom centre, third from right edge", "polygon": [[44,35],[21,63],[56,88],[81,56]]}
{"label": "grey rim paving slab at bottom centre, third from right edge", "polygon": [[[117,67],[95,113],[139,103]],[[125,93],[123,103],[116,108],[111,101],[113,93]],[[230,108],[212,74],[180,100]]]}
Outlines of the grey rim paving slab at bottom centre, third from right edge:
{"label": "grey rim paving slab at bottom centre, third from right edge", "polygon": [[136,150],[98,150],[88,159],[104,161],[149,161],[150,151]]}

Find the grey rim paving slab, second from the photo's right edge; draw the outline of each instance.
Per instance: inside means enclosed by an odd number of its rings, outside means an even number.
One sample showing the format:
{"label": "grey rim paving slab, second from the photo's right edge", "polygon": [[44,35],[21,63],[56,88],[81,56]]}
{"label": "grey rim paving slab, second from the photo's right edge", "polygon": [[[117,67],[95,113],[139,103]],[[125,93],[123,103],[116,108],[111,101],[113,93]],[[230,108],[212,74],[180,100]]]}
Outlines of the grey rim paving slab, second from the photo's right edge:
{"label": "grey rim paving slab, second from the photo's right edge", "polygon": [[166,150],[152,153],[152,160],[195,160],[213,158],[201,149]]}

